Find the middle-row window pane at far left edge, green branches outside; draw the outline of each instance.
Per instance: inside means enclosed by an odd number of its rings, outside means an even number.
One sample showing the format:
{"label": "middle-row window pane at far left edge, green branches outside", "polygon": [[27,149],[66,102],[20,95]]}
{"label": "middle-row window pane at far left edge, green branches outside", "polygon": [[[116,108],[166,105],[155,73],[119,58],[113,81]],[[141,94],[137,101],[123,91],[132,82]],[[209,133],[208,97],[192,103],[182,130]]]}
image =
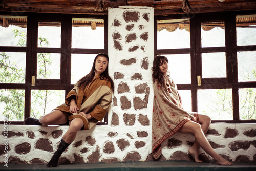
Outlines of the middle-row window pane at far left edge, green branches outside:
{"label": "middle-row window pane at far left edge, green branches outside", "polygon": [[25,83],[26,53],[0,52],[0,82]]}

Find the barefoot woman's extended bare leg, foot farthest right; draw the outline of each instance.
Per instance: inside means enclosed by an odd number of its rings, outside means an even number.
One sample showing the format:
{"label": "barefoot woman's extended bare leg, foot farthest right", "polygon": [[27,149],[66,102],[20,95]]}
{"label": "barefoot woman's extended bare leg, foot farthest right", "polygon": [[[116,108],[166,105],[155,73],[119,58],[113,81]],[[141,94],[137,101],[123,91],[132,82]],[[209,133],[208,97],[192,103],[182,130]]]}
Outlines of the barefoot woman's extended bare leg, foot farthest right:
{"label": "barefoot woman's extended bare leg, foot farthest right", "polygon": [[193,133],[199,146],[201,146],[206,153],[213,157],[217,164],[232,165],[231,162],[227,161],[226,159],[218,155],[210,146],[210,143],[206,139],[200,124],[193,121],[188,121],[182,126],[179,132],[183,134]]}

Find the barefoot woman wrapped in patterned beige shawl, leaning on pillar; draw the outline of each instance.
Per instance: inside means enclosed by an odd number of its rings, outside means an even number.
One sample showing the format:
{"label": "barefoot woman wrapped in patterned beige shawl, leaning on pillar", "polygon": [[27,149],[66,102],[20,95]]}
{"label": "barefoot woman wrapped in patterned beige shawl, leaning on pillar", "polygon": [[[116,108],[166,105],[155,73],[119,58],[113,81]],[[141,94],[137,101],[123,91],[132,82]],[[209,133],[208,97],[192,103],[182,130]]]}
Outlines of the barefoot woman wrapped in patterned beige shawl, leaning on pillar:
{"label": "barefoot woman wrapped in patterned beige shawl, leaning on pillar", "polygon": [[202,147],[217,164],[232,165],[214,151],[205,137],[210,126],[210,117],[183,109],[177,86],[169,76],[168,59],[165,56],[156,56],[152,70],[154,83],[152,154],[154,158],[157,159],[162,154],[161,143],[180,132],[195,135],[195,142],[188,152],[196,162],[202,162],[198,158],[198,149]]}

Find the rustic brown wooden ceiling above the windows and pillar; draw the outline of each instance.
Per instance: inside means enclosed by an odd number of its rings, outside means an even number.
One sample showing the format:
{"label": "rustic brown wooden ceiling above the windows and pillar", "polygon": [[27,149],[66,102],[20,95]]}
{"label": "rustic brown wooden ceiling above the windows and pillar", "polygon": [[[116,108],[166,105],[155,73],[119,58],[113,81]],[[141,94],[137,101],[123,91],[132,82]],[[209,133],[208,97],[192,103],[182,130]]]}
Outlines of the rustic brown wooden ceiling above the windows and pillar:
{"label": "rustic brown wooden ceiling above the windows and pillar", "polygon": [[119,6],[154,7],[155,15],[256,10],[255,0],[0,0],[0,11],[107,15]]}

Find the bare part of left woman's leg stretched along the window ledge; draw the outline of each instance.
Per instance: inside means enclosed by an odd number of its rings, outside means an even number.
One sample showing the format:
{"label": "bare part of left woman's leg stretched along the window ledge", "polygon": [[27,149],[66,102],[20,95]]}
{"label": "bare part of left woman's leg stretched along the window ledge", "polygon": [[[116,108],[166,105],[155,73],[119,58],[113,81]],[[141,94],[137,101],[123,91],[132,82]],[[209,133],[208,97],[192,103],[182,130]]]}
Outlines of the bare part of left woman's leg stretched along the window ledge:
{"label": "bare part of left woman's leg stretched along the window ledge", "polygon": [[39,122],[44,126],[64,124],[68,121],[68,113],[54,110],[49,114],[41,116]]}

